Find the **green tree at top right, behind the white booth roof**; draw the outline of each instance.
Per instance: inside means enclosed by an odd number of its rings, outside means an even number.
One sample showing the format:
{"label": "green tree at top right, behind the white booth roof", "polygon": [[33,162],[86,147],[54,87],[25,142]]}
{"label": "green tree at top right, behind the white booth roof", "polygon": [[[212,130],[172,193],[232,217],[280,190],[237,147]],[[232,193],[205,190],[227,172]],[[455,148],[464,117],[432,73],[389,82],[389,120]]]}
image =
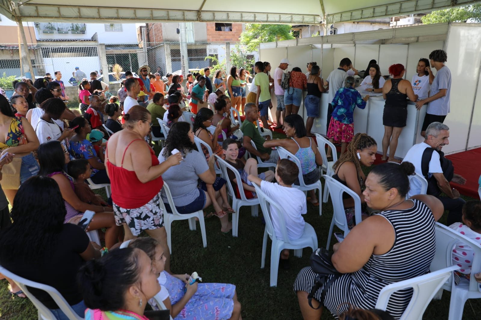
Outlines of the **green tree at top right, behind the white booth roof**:
{"label": "green tree at top right, behind the white booth roof", "polygon": [[423,24],[439,24],[443,22],[481,23],[481,4],[438,10],[421,18]]}

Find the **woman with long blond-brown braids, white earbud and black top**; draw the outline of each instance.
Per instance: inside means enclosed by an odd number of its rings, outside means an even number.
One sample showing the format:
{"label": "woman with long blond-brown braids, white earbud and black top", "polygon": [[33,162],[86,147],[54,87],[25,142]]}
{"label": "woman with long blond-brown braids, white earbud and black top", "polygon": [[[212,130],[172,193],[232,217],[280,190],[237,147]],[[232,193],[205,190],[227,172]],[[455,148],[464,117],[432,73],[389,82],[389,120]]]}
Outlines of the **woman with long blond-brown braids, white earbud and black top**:
{"label": "woman with long blond-brown braids, white earbud and black top", "polygon": [[[361,165],[371,166],[376,160],[376,152],[378,151],[378,144],[376,141],[368,136],[366,133],[357,133],[353,140],[349,143],[347,151],[339,157],[339,160],[332,166],[334,175],[332,178],[341,182],[344,186],[353,190],[359,198],[363,208],[366,208],[366,201],[362,194],[366,176],[361,170]],[[347,223],[350,227],[354,226],[354,199],[347,193],[342,194],[344,202],[344,211],[346,212]],[[362,219],[365,219],[369,214],[366,210],[361,210]],[[360,221],[355,221],[355,224]]]}

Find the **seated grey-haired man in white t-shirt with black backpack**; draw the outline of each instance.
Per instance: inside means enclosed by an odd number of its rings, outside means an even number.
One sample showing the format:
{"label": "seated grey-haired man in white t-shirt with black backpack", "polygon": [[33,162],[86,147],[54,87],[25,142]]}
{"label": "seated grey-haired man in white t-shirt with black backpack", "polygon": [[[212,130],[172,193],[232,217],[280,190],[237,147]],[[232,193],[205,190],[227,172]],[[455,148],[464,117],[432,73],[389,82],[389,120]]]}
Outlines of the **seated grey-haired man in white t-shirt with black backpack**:
{"label": "seated grey-haired man in white t-shirt with black backpack", "polygon": [[[449,144],[449,128],[441,122],[433,122],[426,129],[426,137],[424,142],[415,144],[409,149],[403,162],[410,162],[415,167],[415,172],[421,177],[425,177],[422,172],[422,157],[426,148],[433,148],[438,152],[444,145]],[[441,202],[443,202],[444,210],[449,211],[447,224],[452,225],[455,222],[460,222],[462,217],[462,208],[465,201],[460,198],[459,191],[451,188],[449,181],[444,177],[443,168],[441,167],[441,155],[432,151],[432,155],[429,161],[427,178],[431,177],[436,179],[439,192],[438,194],[432,194]],[[425,177],[426,178],[426,177]],[[451,179],[452,182],[458,184],[465,184],[466,179],[460,175],[454,174]],[[421,185],[418,180],[413,179],[410,182],[410,190],[408,196],[419,194],[421,192]],[[446,196],[440,196],[440,192],[443,192]],[[429,194],[429,192],[428,192]]]}

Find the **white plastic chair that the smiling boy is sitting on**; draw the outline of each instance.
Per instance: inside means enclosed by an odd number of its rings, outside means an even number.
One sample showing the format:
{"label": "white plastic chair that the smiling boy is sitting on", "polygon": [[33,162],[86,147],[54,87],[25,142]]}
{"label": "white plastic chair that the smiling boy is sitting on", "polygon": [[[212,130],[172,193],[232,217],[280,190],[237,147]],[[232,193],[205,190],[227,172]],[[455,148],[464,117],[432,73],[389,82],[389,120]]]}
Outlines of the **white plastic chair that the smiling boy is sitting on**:
{"label": "white plastic chair that the smiling boy is sitting on", "polygon": [[[256,217],[259,214],[259,199],[247,199],[245,196],[244,188],[242,187],[242,180],[239,171],[230,164],[228,164],[227,161],[223,160],[217,154],[215,154],[215,158],[217,159],[217,163],[220,166],[221,177],[227,181],[228,195],[232,198],[232,209],[235,211],[235,213],[232,213],[232,237],[237,237],[239,234],[239,211],[241,210],[241,207],[250,206],[252,216]],[[234,186],[230,184],[227,170],[232,171],[236,176],[237,188],[239,188],[239,194],[241,196],[241,199],[236,197],[236,192],[234,190]]]}

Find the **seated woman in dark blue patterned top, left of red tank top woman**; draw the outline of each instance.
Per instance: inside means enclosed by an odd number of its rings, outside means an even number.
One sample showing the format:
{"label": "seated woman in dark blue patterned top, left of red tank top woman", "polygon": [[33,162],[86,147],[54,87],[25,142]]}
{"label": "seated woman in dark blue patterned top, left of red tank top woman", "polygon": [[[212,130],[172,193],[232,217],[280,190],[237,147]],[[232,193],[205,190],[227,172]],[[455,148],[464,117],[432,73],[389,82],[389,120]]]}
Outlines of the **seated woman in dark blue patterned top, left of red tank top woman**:
{"label": "seated woman in dark blue patterned top, left of red tank top woman", "polygon": [[92,143],[87,140],[87,134],[92,131],[92,128],[83,117],[77,117],[70,121],[70,129],[75,128],[75,135],[70,140],[68,146],[68,152],[75,159],[86,159],[89,161],[90,167],[92,168],[92,175],[90,178],[95,184],[110,183],[110,179],[107,176],[107,171],[105,170],[105,165],[100,161]]}

